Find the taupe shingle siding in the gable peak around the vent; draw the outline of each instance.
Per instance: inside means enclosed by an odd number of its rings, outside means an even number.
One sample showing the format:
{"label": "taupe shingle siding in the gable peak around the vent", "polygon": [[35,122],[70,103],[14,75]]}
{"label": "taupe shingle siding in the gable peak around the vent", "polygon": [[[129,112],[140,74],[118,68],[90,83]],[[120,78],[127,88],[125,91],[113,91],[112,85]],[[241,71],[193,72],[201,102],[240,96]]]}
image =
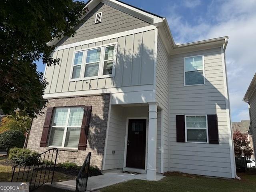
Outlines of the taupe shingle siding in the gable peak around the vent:
{"label": "taupe shingle siding in the gable peak around the vent", "polygon": [[[98,12],[102,12],[102,20],[100,23],[95,24],[96,13]],[[84,17],[82,23],[76,26],[76,34],[74,34],[74,37],[64,37],[56,46],[94,39],[149,25],[149,23],[121,12],[111,6],[99,3]]]}

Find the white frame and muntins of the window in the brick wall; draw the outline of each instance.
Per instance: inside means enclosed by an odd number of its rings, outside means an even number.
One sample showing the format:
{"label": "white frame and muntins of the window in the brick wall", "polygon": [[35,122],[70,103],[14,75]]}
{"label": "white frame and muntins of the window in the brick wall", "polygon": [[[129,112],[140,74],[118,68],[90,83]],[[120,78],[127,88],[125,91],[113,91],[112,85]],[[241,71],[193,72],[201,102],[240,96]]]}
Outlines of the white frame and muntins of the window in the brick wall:
{"label": "white frame and muntins of the window in the brick wall", "polygon": [[[77,148],[65,147],[65,141],[66,141],[66,135],[67,135],[68,128],[79,128],[79,126],[68,126],[68,121],[69,121],[69,118],[70,118],[70,110],[71,110],[71,108],[79,108],[79,107],[81,107],[81,106],[74,106],[74,107],[69,107],[68,108],[66,123],[65,123],[64,126],[56,126],[56,125],[52,125],[51,124],[50,134],[49,134],[47,146],[54,147],[54,148],[78,149],[78,147]],[[67,108],[67,107],[58,107],[58,108]],[[55,113],[55,110],[56,110],[56,108],[54,108],[54,113]],[[52,116],[52,120],[53,120],[53,118],[54,118],[54,116]],[[64,128],[64,134],[63,134],[61,146],[50,145],[50,138],[51,138],[51,134],[52,134],[52,128],[55,128],[55,127],[56,128]],[[80,126],[80,129],[81,129],[81,126]]]}

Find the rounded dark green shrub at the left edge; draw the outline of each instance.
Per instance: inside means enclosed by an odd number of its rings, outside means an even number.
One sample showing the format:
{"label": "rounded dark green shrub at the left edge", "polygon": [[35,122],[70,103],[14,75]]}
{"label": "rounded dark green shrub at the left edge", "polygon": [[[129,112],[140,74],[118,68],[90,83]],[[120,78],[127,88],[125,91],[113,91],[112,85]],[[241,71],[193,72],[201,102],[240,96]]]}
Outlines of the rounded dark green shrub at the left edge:
{"label": "rounded dark green shrub at the left edge", "polygon": [[20,130],[7,130],[0,134],[0,148],[22,148],[25,136]]}

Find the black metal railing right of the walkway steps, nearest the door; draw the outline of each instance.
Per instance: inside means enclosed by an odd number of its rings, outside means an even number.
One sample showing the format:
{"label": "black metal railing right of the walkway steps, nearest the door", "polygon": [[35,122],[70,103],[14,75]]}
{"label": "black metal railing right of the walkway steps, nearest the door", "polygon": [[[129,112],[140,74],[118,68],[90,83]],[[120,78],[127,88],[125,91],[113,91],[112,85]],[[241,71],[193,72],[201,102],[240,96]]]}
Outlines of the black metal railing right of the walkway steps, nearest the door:
{"label": "black metal railing right of the walkway steps, nearest the door", "polygon": [[88,174],[90,169],[91,152],[88,153],[84,164],[81,167],[76,178],[76,192],[85,192],[87,188]]}

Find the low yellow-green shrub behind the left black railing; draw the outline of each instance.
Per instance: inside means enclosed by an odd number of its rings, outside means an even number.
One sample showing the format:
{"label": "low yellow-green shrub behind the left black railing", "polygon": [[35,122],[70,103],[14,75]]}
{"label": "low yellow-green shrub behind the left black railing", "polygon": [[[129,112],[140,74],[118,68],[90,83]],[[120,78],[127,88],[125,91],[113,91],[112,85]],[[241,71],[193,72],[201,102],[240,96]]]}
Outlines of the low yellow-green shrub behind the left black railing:
{"label": "low yellow-green shrub behind the left black railing", "polygon": [[9,159],[12,160],[16,164],[20,164],[29,158],[33,159],[26,162],[25,165],[34,165],[38,164],[38,152],[32,151],[30,149],[23,149],[23,148],[12,148],[9,152]]}

